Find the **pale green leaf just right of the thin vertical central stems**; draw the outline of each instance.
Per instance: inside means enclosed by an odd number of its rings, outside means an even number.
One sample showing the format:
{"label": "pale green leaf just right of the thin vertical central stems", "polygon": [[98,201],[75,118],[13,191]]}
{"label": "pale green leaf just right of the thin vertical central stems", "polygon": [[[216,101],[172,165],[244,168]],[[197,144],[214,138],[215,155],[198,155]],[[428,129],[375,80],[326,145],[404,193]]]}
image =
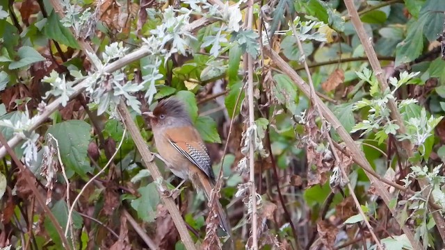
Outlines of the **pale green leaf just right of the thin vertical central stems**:
{"label": "pale green leaf just right of the thin vertical central stems", "polygon": [[291,113],[296,115],[298,113],[298,107],[296,103],[297,98],[297,87],[289,78],[289,76],[285,74],[276,74],[273,76],[275,80],[275,85],[272,87],[273,95],[277,98],[282,104],[286,105]]}

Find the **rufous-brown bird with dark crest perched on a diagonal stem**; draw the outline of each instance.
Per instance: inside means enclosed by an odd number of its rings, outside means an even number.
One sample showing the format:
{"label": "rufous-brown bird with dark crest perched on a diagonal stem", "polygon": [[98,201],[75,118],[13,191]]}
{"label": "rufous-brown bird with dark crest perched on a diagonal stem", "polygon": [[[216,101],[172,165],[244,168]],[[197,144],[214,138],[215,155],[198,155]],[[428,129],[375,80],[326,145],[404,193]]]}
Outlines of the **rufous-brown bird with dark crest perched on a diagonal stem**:
{"label": "rufous-brown bird with dark crest perched on a diagonal stem", "polygon": [[[195,190],[203,191],[209,200],[216,183],[211,159],[184,103],[175,97],[163,99],[152,112],[144,112],[143,115],[152,127],[159,155],[168,169],[182,179],[177,188],[190,180]],[[220,227],[230,236],[225,211],[219,201],[215,203]]]}

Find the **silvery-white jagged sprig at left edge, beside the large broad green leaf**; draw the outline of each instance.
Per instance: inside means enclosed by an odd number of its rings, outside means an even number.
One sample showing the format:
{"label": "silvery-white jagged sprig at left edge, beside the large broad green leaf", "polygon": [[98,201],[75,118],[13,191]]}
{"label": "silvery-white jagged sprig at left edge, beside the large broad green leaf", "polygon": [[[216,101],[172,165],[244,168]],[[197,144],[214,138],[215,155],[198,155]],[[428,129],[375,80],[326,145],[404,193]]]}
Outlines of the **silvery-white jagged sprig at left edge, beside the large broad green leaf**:
{"label": "silvery-white jagged sprig at left edge, beside the large broad green leaf", "polygon": [[38,142],[39,134],[35,133],[31,128],[35,124],[37,117],[30,118],[29,110],[26,107],[26,112],[19,113],[18,119],[13,122],[10,119],[0,120],[0,126],[6,128],[12,128],[14,135],[18,135],[24,140],[22,144],[22,149],[24,149],[24,159],[26,165],[30,165],[34,160],[37,160],[37,146],[35,143]]}

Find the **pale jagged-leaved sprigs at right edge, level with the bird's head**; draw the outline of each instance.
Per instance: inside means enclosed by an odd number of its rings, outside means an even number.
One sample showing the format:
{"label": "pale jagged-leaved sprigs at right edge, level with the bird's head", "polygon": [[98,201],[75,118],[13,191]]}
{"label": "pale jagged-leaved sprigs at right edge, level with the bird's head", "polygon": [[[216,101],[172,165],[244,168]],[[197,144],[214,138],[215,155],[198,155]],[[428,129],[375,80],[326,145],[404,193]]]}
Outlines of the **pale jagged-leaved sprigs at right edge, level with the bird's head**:
{"label": "pale jagged-leaved sprigs at right edge, level with the bird's head", "polygon": [[[356,72],[357,76],[371,85],[369,94],[372,99],[362,99],[357,101],[353,106],[353,110],[359,110],[361,108],[369,107],[369,115],[367,119],[357,123],[351,133],[356,131],[363,131],[362,135],[370,133],[375,129],[380,129],[376,136],[381,139],[385,139],[388,134],[396,135],[399,126],[391,120],[391,110],[389,110],[387,103],[390,99],[396,101],[398,110],[402,110],[406,106],[416,103],[415,99],[405,99],[403,101],[397,101],[395,97],[396,90],[404,84],[410,83],[419,75],[419,72],[408,73],[401,72],[399,79],[395,77],[389,78],[389,84],[392,87],[387,88],[383,92],[380,90],[379,84],[375,76],[373,76],[371,70],[365,68],[363,72]],[[428,117],[426,110],[423,108],[419,117],[410,117],[408,121],[405,121],[407,131],[403,135],[397,135],[399,140],[410,140],[415,146],[421,146],[425,140],[430,137],[431,131],[437,126],[442,117],[434,118]],[[380,140],[382,142],[382,140]]]}

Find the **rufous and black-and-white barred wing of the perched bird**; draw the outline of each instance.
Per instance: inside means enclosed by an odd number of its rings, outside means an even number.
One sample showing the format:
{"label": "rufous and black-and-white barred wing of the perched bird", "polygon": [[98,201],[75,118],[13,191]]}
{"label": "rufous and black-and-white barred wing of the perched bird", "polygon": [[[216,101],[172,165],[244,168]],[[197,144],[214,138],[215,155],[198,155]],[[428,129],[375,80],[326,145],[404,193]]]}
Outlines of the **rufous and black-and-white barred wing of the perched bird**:
{"label": "rufous and black-and-white barred wing of the perched bird", "polygon": [[165,135],[167,135],[170,144],[172,144],[177,151],[201,169],[212,181],[215,181],[207,147],[204,145],[204,142],[202,142],[200,134],[195,128],[185,126],[167,129]]}

